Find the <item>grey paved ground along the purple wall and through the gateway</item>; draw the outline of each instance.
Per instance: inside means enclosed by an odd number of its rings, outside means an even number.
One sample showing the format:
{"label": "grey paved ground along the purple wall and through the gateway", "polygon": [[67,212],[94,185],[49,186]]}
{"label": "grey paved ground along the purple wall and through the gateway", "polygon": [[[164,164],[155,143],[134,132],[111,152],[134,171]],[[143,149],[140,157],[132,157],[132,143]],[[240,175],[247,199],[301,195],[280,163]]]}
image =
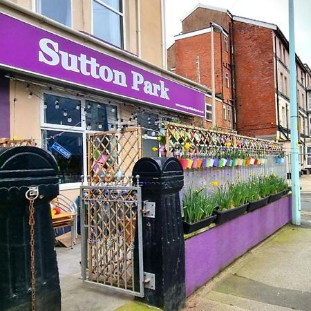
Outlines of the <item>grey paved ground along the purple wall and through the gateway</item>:
{"label": "grey paved ground along the purple wall and through the gateway", "polygon": [[[311,311],[311,175],[301,176],[300,182],[301,225],[285,225],[250,249],[189,296],[185,311]],[[153,309],[132,296],[83,284],[79,245],[57,248],[57,259],[62,310]]]}

